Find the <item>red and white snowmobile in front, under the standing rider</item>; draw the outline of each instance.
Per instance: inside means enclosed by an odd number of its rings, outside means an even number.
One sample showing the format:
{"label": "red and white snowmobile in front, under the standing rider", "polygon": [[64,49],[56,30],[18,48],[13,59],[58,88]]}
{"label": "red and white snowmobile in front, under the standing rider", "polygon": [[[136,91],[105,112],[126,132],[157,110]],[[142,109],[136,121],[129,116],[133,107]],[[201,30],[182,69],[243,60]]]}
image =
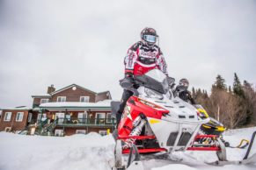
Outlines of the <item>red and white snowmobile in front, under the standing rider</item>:
{"label": "red and white snowmobile in front, under the standing rider", "polygon": [[[133,92],[118,126],[113,169],[143,169],[140,154],[178,151],[214,151],[220,161],[227,161],[225,145],[216,135],[199,133],[209,117],[198,117],[193,105],[173,96],[174,80],[158,69],[135,76],[135,84],[121,81],[121,87]],[[182,87],[179,86],[182,90]],[[112,103],[117,110],[119,103]],[[199,142],[210,138],[213,142]],[[128,154],[124,163],[123,154]],[[256,155],[255,155],[256,157]]]}

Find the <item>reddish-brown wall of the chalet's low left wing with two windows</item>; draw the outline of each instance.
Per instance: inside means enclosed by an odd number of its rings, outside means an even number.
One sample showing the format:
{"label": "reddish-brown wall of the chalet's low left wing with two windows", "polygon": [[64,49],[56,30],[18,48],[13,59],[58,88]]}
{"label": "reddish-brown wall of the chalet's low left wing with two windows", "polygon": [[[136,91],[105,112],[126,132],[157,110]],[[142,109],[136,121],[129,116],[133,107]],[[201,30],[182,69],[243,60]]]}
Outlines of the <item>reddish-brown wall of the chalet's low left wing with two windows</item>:
{"label": "reddish-brown wall of the chalet's low left wing with two windows", "polygon": [[[4,121],[6,112],[11,112],[10,121]],[[21,122],[16,121],[18,112],[24,112],[23,119]],[[6,127],[11,127],[11,131],[22,131],[26,128],[27,119],[28,119],[28,110],[3,110],[1,123],[0,123],[0,131],[4,131]]]}

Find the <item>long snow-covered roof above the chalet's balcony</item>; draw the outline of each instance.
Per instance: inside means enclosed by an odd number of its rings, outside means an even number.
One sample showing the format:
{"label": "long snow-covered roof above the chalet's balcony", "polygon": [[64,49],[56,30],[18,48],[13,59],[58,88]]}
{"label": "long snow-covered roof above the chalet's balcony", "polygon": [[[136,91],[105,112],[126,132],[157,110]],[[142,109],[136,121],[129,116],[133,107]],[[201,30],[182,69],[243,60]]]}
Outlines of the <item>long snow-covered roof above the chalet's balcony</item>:
{"label": "long snow-covered roof above the chalet's balcony", "polygon": [[110,110],[112,100],[99,101],[98,103],[79,103],[79,102],[64,102],[64,103],[41,103],[41,109],[58,110],[58,109],[106,109]]}

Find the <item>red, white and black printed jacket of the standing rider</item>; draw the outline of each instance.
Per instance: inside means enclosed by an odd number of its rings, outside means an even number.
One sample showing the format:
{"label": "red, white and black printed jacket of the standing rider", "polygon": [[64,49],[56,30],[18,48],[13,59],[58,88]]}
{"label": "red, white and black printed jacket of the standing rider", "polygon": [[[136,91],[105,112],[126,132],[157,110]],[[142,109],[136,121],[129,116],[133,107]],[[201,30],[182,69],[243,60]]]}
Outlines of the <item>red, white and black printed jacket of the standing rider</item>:
{"label": "red, white and black printed jacket of the standing rider", "polygon": [[142,41],[138,41],[128,49],[124,64],[125,74],[141,75],[154,68],[167,74],[165,58],[160,48],[157,45],[146,46]]}

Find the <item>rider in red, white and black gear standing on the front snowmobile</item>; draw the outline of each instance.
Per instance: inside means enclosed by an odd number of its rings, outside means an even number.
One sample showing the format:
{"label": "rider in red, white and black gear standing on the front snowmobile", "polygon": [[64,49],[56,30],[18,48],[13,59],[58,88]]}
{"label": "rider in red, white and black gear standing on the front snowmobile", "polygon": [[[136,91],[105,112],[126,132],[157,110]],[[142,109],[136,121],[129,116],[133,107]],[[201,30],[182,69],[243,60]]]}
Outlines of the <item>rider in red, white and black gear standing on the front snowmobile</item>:
{"label": "rider in red, white and black gear standing on the front snowmobile", "polygon": [[[168,75],[164,55],[159,46],[156,45],[157,38],[156,30],[146,27],[141,32],[141,40],[128,49],[128,53],[124,59],[126,80],[134,82],[134,75],[145,74],[154,68],[160,69]],[[132,95],[133,93],[131,91],[124,89],[120,108],[116,115],[117,127],[120,123],[126,102]]]}

